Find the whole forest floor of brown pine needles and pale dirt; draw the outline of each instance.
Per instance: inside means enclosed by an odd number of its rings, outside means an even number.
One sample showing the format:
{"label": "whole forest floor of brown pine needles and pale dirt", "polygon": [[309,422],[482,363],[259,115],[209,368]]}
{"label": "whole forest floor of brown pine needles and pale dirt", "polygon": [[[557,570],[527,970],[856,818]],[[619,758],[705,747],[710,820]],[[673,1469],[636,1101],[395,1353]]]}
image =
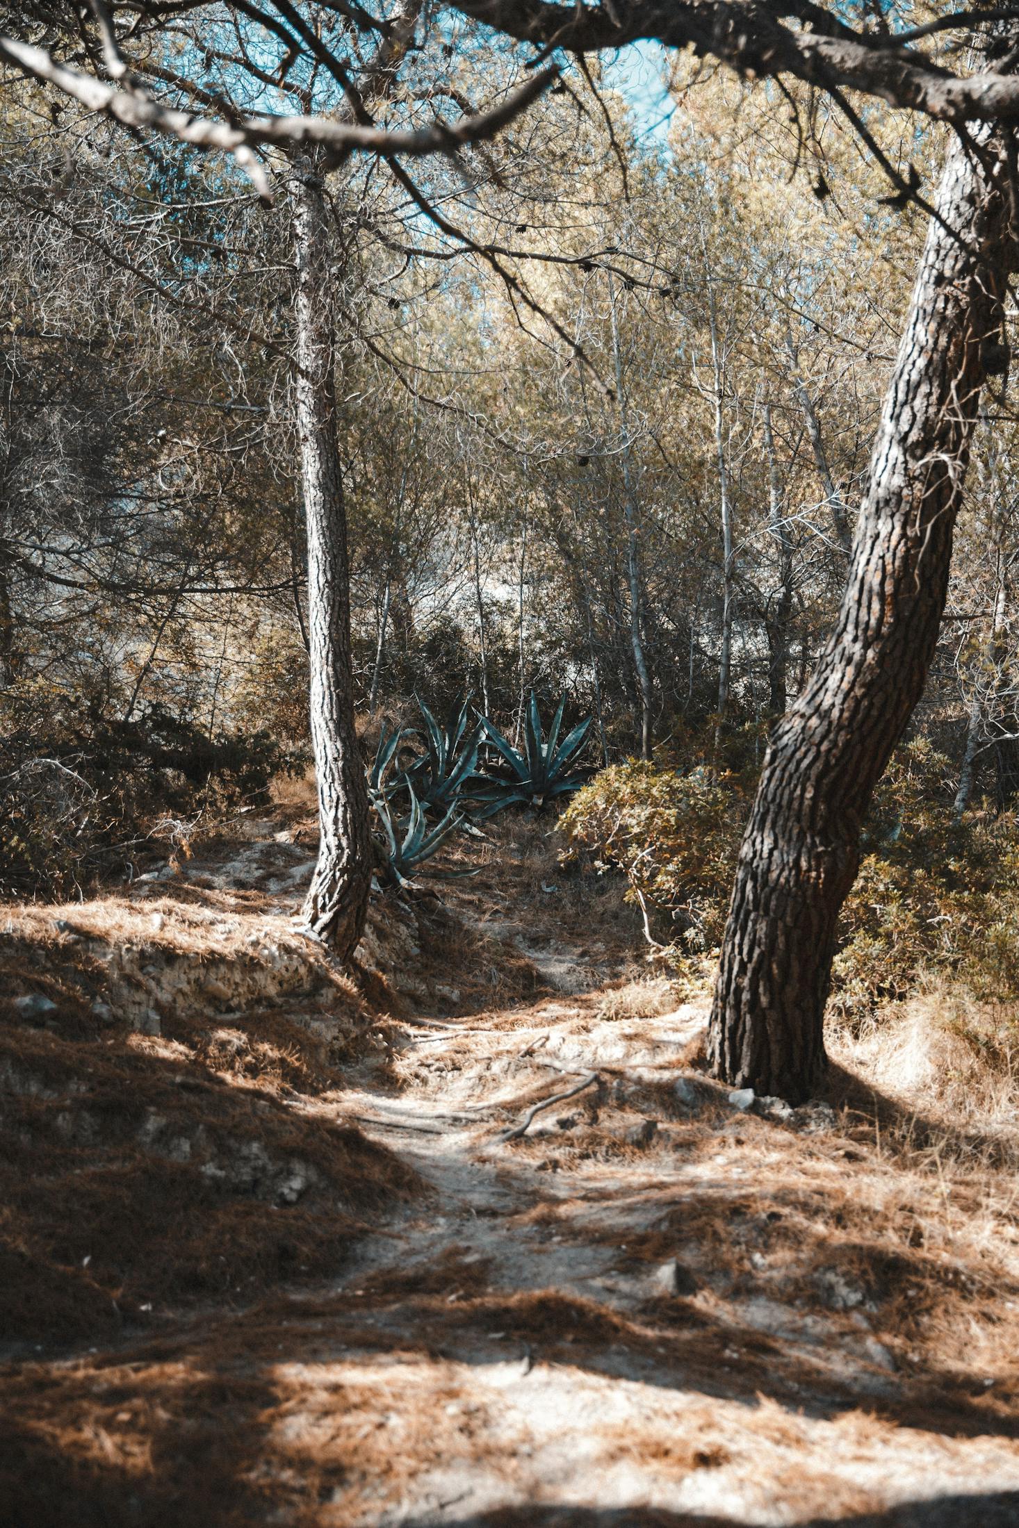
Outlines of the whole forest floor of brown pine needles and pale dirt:
{"label": "whole forest floor of brown pine needles and pale dirt", "polygon": [[8,1528],[1019,1523],[1008,1131],[872,1038],[732,1102],[539,827],[354,979],[312,854],[0,917]]}

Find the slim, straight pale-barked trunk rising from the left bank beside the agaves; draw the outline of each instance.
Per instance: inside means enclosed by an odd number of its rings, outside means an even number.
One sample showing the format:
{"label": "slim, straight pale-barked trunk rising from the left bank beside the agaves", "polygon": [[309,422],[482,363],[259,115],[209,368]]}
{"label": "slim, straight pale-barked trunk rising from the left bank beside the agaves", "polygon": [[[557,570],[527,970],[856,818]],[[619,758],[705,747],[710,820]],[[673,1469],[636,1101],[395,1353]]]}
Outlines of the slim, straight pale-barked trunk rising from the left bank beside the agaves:
{"label": "slim, straight pale-barked trunk rising from the left bank beside the agaves", "polygon": [[371,885],[368,788],[354,732],[347,510],[336,440],[328,229],[315,165],[295,174],[298,432],[307,523],[312,747],[319,851],[304,903],[307,931],[339,960],[364,931]]}

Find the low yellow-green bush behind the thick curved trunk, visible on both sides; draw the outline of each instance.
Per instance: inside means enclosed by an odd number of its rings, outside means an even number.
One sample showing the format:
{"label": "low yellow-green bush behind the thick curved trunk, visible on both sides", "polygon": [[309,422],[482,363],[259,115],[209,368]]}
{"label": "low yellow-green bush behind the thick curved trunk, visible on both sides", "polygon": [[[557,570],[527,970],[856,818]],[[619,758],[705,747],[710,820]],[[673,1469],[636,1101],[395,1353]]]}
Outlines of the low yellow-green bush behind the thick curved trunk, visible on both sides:
{"label": "low yellow-green bush behind the thick curved trunk, visible on both sides", "polygon": [[[843,1015],[946,973],[979,998],[1019,998],[1019,834],[1011,814],[952,813],[952,766],[929,743],[898,750],[863,833],[833,972]],[[567,856],[622,871],[649,934],[677,969],[703,972],[721,944],[753,781],[617,764],[559,819]]]}

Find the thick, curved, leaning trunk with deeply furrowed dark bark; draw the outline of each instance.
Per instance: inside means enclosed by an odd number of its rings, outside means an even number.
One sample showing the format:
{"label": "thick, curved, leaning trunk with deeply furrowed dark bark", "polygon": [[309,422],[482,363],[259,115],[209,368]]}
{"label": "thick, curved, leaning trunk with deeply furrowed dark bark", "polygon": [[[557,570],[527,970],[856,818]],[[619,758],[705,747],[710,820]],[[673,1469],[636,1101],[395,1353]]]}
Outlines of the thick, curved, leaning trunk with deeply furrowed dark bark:
{"label": "thick, curved, leaning trunk with deeply furrowed dark bark", "polygon": [[[998,136],[982,153],[1004,180]],[[739,853],[709,1050],[715,1074],[793,1102],[825,1063],[823,1012],[860,822],[938,639],[982,342],[1014,264],[1001,185],[950,154],[871,461],[839,619],[775,729]]]}

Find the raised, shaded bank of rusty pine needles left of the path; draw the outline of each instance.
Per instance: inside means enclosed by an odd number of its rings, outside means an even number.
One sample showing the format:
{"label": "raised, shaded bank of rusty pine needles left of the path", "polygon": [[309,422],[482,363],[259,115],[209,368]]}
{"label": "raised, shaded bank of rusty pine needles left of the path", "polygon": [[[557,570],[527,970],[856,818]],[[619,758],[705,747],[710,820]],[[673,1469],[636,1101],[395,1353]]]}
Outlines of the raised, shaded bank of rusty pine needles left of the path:
{"label": "raised, shaded bank of rusty pine needles left of the path", "polygon": [[[6,1345],[110,1337],[186,1302],[335,1277],[365,1222],[420,1192],[359,1131],[287,1106],[373,1051],[354,984],[284,918],[251,911],[257,894],[142,892],[8,915]],[[31,995],[55,1010],[26,1016],[15,999]],[[141,1015],[157,1034],[137,1031]]]}

